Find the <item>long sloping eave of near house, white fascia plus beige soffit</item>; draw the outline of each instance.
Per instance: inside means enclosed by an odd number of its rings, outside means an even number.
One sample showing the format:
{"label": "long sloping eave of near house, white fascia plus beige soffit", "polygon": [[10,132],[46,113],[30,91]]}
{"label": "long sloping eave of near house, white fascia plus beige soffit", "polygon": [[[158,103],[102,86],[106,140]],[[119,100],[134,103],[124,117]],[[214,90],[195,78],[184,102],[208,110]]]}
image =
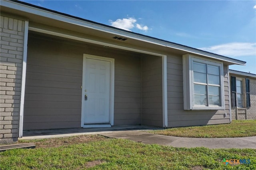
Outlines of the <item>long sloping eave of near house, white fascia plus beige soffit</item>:
{"label": "long sloping eave of near house, white fascia plus beige soffit", "polygon": [[208,57],[208,58],[211,58],[211,59],[216,59],[216,60],[219,60],[219,61],[223,61],[227,65],[232,65],[232,64],[245,65],[246,64],[245,61],[240,61],[240,60],[233,59],[233,58],[230,58],[230,57],[226,57],[226,56],[210,53],[210,52],[207,52],[207,51],[203,51],[203,50],[200,50],[200,49],[188,47],[186,45],[181,45],[181,44],[178,44],[178,43],[172,43],[172,42],[168,42],[166,40],[160,40],[158,38],[153,38],[153,37],[150,37],[150,36],[137,34],[137,33],[122,30],[122,29],[119,29],[119,28],[114,28],[112,26],[107,26],[107,25],[104,25],[104,24],[92,22],[92,21],[89,21],[89,20],[85,20],[85,19],[82,19],[82,18],[71,16],[71,15],[68,15],[68,14],[63,14],[63,13],[56,12],[56,11],[53,11],[53,10],[49,10],[49,9],[46,9],[46,8],[34,6],[32,4],[27,4],[25,2],[6,1],[6,0],[1,1],[1,11],[6,11],[6,12],[13,13],[13,14],[16,14],[16,15],[24,15],[28,19],[30,18],[31,15],[41,16],[41,17],[44,17],[46,19],[48,18],[48,20],[51,19],[51,20],[64,22],[66,24],[72,24],[72,25],[74,25],[74,27],[76,27],[76,26],[77,27],[83,27],[83,28],[88,28],[88,29],[94,30],[94,31],[100,31],[103,34],[104,33],[105,34],[114,34],[114,35],[118,35],[118,36],[121,36],[121,37],[126,37],[126,38],[129,38],[129,39],[138,41],[138,42],[140,42],[140,45],[144,44],[144,46],[146,46],[146,44],[150,43],[150,44],[154,45],[154,47],[156,49],[158,47],[166,47],[170,50],[175,49],[175,50],[182,51],[182,53],[184,53],[184,54],[185,53],[191,53],[191,54],[200,55],[200,56],[203,56],[203,57]]}

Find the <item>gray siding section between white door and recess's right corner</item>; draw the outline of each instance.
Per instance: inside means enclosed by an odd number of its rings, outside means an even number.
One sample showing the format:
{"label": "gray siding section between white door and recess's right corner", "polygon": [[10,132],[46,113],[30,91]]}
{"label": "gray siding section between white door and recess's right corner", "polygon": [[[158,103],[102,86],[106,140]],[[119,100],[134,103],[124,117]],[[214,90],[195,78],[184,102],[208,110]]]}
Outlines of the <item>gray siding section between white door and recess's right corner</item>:
{"label": "gray siding section between white door and recess's right corner", "polygon": [[140,57],[115,56],[114,125],[141,123]]}

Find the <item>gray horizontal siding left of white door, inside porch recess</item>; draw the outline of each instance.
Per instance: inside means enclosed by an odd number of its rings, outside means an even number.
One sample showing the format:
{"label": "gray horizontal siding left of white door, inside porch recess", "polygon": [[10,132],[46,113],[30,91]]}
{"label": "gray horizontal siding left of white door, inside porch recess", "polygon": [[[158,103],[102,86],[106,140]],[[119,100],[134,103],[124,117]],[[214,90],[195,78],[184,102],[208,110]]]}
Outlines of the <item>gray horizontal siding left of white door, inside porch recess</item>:
{"label": "gray horizontal siding left of white door, inside porch recess", "polygon": [[72,51],[29,37],[24,130],[80,127],[82,57]]}

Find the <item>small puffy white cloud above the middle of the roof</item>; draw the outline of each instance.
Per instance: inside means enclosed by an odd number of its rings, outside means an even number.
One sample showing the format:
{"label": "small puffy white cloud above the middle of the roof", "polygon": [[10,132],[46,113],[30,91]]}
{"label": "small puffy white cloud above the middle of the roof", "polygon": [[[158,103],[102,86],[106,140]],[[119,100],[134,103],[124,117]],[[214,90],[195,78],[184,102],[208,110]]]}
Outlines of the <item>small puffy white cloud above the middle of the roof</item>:
{"label": "small puffy white cloud above the middle of the roof", "polygon": [[148,26],[142,26],[141,24],[137,24],[137,20],[135,18],[123,18],[123,19],[117,19],[116,21],[109,20],[111,23],[111,26],[120,28],[123,30],[131,31],[132,28],[136,26],[139,30],[147,31]]}

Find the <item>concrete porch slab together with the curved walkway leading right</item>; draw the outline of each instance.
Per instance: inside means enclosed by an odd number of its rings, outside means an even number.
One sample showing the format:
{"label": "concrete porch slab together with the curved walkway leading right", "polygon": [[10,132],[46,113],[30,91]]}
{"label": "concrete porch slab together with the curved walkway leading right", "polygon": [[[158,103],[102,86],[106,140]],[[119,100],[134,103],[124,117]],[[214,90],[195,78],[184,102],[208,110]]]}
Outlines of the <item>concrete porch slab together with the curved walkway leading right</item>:
{"label": "concrete porch slab together with the curved walkway leading right", "polygon": [[67,137],[83,134],[101,134],[110,138],[122,138],[145,144],[161,144],[174,147],[206,148],[253,148],[256,149],[256,136],[242,138],[186,138],[148,133],[145,130],[160,128],[148,126],[121,126],[111,128],[71,128],[57,130],[26,130],[19,140]]}

